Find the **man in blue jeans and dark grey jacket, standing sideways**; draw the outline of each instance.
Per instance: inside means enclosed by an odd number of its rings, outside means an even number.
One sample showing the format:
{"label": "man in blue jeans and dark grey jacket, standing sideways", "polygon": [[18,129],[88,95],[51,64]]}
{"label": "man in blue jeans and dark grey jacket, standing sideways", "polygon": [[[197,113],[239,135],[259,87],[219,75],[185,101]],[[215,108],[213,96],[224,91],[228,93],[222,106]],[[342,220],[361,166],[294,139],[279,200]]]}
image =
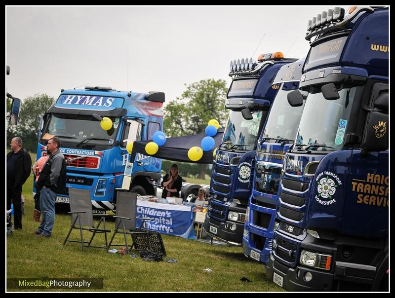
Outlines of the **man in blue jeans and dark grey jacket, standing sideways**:
{"label": "man in blue jeans and dark grey jacket, standing sideways", "polygon": [[55,223],[56,194],[64,193],[66,187],[66,160],[59,148],[58,138],[48,140],[49,158],[41,170],[37,189],[40,191],[41,224],[34,233],[36,237],[49,237]]}

